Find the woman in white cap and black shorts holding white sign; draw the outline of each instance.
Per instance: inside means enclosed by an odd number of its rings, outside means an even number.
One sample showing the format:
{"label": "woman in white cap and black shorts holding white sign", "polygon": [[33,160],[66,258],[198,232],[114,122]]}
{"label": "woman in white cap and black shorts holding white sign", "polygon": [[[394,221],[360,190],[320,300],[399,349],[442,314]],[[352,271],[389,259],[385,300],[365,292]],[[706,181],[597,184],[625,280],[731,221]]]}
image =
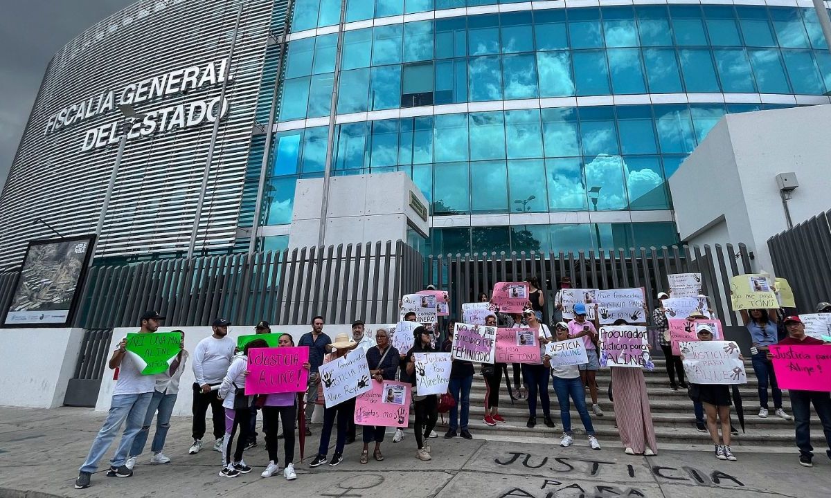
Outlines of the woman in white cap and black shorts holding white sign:
{"label": "woman in white cap and black shorts holding white sign", "polygon": [[[700,325],[698,327],[698,340],[713,340],[712,325]],[[684,357],[681,356],[683,360]],[[744,359],[739,355],[739,359]],[[736,461],[733,452],[730,451],[730,386],[725,384],[693,384],[691,396],[697,398],[699,403],[704,404],[707,413],[707,430],[715,445],[715,457],[719,460]],[[719,438],[719,425],[716,417],[721,422],[721,438]]]}

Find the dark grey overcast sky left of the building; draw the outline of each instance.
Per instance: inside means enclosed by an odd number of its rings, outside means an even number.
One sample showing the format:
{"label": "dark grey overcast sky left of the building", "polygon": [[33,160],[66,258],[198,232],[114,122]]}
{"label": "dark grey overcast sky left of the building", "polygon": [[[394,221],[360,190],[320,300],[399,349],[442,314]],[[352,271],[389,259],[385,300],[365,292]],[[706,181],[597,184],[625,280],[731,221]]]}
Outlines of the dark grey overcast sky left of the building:
{"label": "dark grey overcast sky left of the building", "polygon": [[0,184],[20,143],[43,71],[87,27],[135,0],[0,0]]}

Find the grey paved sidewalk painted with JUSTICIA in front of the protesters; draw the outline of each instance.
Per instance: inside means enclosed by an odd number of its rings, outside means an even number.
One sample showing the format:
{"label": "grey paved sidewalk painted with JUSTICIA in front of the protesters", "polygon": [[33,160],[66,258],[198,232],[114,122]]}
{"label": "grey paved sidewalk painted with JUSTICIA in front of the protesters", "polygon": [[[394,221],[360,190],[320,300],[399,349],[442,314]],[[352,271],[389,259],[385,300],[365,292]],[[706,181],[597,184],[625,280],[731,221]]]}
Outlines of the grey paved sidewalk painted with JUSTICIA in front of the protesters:
{"label": "grey paved sidewalk painted with JUSTICIA in front of the protesters", "polygon": [[[165,448],[170,464],[150,466],[150,455],[145,454],[133,477],[108,478],[99,472],[92,476],[91,488],[75,490],[77,468],[103,419],[103,413],[83,408],[0,408],[0,498],[241,498],[287,491],[292,498],[831,496],[831,461],[823,450],[809,469],[799,466],[795,448],[789,454],[764,448],[743,452],[737,462],[718,461],[712,452],[663,449],[657,457],[629,457],[613,444],[593,452],[584,437],[576,437],[575,446],[569,448],[559,447],[558,439],[529,444],[439,437],[430,439],[433,461],[425,462],[416,460],[415,441],[408,431],[400,443],[392,443],[388,434],[383,462],[371,459],[361,465],[361,444],[356,442],[347,446],[346,461],[340,466],[310,469],[307,463],[317,447],[317,425],[307,439],[306,460],[296,465],[297,481],[259,476],[268,463],[262,439],[245,455],[254,471],[227,479],[218,476],[219,453],[205,448],[187,455],[190,420],[184,417],[171,422]],[[358,434],[360,438],[360,430]],[[107,461],[101,465],[106,468]]]}

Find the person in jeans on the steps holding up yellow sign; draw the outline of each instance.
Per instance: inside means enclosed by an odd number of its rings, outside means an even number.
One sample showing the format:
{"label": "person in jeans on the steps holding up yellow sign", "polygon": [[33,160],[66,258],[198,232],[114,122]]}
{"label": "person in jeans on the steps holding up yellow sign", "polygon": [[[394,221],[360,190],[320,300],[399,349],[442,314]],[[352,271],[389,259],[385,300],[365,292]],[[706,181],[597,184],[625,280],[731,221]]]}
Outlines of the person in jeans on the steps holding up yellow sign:
{"label": "person in jeans on the steps holding up yellow sign", "polygon": [[759,416],[768,416],[768,384],[774,395],[774,409],[777,417],[785,420],[792,420],[788,413],[782,409],[782,390],[776,382],[776,374],[773,364],[768,359],[768,346],[778,341],[776,332],[776,310],[741,310],[741,317],[745,320],[747,330],[750,331],[750,340],[753,347],[750,353],[753,354],[753,371],[759,380]]}

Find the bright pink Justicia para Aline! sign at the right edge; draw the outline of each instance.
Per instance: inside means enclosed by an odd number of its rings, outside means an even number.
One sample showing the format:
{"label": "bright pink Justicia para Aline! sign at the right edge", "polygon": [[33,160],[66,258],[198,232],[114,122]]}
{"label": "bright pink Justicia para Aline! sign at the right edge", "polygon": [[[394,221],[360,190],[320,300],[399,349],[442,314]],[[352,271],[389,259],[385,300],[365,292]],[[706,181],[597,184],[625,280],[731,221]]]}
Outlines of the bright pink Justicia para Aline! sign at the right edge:
{"label": "bright pink Justicia para Aline! sign at the right edge", "polygon": [[779,388],[831,391],[831,346],[770,346]]}

